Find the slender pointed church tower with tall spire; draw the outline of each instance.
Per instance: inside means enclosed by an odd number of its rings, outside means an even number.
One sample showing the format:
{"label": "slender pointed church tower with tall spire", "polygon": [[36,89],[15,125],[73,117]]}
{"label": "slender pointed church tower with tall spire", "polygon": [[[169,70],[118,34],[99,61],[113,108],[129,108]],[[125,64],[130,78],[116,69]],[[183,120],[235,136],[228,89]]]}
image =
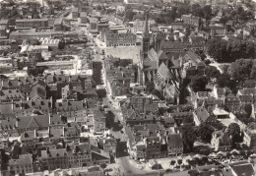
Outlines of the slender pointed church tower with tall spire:
{"label": "slender pointed church tower with tall spire", "polygon": [[145,59],[150,51],[150,31],[149,31],[149,17],[148,11],[145,12],[145,23],[142,35],[142,59]]}

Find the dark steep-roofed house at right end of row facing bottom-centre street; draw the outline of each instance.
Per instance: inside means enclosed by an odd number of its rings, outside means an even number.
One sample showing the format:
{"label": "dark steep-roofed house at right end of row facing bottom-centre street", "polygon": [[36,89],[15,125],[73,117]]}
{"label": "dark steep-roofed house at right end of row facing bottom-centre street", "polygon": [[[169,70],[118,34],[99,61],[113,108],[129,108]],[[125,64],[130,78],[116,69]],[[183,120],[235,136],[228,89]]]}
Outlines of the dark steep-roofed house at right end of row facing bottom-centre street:
{"label": "dark steep-roofed house at right end of row facing bottom-centre street", "polygon": [[180,134],[166,135],[168,156],[177,156],[183,153],[183,141]]}

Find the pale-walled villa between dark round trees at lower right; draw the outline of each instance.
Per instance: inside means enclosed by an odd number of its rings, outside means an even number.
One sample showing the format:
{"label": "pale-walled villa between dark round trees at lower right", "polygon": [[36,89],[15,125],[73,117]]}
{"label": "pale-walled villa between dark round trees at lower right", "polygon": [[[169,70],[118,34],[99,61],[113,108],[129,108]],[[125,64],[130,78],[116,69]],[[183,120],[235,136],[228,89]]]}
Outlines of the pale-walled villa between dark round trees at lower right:
{"label": "pale-walled villa between dark round trees at lower right", "polygon": [[212,135],[211,146],[216,151],[228,151],[231,148],[230,137],[224,131],[215,131]]}

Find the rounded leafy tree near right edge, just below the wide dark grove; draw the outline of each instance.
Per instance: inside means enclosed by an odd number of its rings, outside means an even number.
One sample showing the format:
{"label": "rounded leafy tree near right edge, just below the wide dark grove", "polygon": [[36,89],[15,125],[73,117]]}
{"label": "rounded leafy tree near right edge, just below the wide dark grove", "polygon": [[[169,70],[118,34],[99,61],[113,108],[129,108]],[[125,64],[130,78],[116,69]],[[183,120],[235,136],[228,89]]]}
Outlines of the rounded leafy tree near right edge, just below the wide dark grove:
{"label": "rounded leafy tree near right edge, just below the wide dark grove", "polygon": [[229,71],[230,75],[234,80],[244,80],[248,79],[252,70],[252,60],[251,59],[238,59],[231,63]]}

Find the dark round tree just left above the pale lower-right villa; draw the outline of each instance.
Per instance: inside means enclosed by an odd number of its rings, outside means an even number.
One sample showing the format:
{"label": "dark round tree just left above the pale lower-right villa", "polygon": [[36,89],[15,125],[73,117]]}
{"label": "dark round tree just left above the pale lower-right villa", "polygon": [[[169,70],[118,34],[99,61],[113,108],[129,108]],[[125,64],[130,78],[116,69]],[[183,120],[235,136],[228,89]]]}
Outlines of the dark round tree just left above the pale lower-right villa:
{"label": "dark round tree just left above the pale lower-right villa", "polygon": [[215,131],[215,129],[206,123],[202,123],[197,130],[198,136],[201,138],[202,141],[211,143],[212,140],[212,134]]}

